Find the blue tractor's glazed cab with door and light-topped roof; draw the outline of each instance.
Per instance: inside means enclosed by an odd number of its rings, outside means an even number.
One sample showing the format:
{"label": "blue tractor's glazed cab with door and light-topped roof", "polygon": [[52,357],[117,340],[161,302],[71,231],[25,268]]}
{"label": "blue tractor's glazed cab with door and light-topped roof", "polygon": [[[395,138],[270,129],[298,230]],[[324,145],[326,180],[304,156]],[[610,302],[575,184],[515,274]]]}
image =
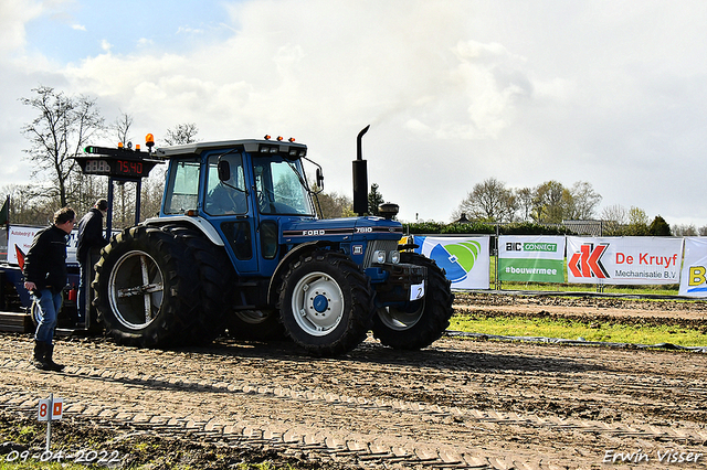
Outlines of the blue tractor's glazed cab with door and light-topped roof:
{"label": "blue tractor's glazed cab with door and light-topped roof", "polygon": [[189,217],[208,227],[240,276],[270,277],[284,255],[283,225],[315,218],[302,165],[306,151],[293,140],[268,139],[158,149],[169,159],[160,218]]}

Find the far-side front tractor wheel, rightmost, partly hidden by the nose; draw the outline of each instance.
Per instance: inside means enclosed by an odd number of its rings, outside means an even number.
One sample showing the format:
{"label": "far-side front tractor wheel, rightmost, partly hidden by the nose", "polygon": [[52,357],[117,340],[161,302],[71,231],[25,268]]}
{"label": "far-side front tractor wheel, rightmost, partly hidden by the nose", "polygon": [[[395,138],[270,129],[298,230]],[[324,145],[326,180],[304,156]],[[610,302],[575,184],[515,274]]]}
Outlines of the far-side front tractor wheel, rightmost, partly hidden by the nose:
{"label": "far-side front tractor wheel, rightmost, partly hidden by the nose", "polygon": [[373,337],[393,349],[419,350],[440,339],[450,325],[454,296],[444,270],[432,259],[403,252],[400,261],[428,268],[425,296],[404,308],[378,309],[373,317]]}

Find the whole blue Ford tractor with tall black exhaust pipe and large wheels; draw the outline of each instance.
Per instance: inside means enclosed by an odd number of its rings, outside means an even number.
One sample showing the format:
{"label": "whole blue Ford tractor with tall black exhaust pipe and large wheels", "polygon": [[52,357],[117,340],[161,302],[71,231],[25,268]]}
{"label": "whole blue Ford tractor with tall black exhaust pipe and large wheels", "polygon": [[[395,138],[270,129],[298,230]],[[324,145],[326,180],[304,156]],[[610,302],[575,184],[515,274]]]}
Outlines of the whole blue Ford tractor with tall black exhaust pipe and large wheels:
{"label": "whole blue Ford tractor with tall black exhaust pipe and large wheels", "polygon": [[317,218],[293,139],[159,148],[168,162],[159,216],[112,237],[93,303],[117,340],[166,348],[289,338],[313,355],[356,348],[368,331],[405,350],[449,327],[453,295],[434,261],[399,250],[397,205],[368,211],[366,160],[354,161],[357,217]]}

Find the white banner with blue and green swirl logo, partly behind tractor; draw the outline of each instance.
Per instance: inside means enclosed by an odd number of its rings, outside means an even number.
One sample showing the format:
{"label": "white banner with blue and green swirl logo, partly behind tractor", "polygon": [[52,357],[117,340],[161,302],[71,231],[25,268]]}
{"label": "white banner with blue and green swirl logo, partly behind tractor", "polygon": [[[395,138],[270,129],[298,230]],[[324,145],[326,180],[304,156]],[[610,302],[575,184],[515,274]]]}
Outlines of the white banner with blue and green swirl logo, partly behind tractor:
{"label": "white banner with blue and green swirl logo, partly behind tractor", "polygon": [[434,259],[446,271],[452,289],[488,289],[489,236],[414,236],[415,253]]}

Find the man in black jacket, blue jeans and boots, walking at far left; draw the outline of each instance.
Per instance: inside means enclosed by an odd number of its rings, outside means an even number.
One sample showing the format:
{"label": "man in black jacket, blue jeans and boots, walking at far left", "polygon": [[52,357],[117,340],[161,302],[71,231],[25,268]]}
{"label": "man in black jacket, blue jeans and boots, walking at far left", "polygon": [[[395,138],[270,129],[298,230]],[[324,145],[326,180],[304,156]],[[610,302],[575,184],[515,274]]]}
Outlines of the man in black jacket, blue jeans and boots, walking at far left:
{"label": "man in black jacket, blue jeans and boots, walking at far left", "polygon": [[54,354],[56,313],[62,307],[62,290],[67,282],[66,243],[76,225],[71,207],[54,213],[54,224],[38,232],[24,258],[24,288],[32,292],[39,307],[40,321],[34,333],[32,363],[42,371],[62,371]]}

